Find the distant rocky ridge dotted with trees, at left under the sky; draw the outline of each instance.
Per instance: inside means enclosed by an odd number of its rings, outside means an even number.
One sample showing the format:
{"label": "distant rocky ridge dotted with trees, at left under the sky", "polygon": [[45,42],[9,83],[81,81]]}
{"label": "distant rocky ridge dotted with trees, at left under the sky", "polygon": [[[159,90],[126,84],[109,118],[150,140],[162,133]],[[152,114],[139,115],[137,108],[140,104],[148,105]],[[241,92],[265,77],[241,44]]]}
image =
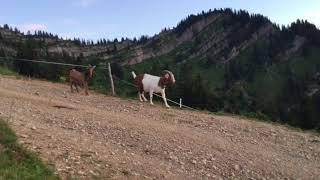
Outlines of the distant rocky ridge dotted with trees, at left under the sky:
{"label": "distant rocky ridge dotted with trees, at left under the sky", "polygon": [[[104,39],[104,41],[106,41]],[[92,43],[92,44],[91,44]],[[32,34],[25,34],[18,29],[13,30],[12,27],[4,25],[0,26],[0,56],[19,57],[29,50],[34,58],[48,58],[56,56],[71,58],[97,56],[99,54],[107,54],[114,48],[121,50],[132,44],[131,41],[124,40],[122,42],[105,42],[105,44],[93,44],[92,41],[85,41],[74,38],[73,40],[64,40],[58,35],[37,31]]]}

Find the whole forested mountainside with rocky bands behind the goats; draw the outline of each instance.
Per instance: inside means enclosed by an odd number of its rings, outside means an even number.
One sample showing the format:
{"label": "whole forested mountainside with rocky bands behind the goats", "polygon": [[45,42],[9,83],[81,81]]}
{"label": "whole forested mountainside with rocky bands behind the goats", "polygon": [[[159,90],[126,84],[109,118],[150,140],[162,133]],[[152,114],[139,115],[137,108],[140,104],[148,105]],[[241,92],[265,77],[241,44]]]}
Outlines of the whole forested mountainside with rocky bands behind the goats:
{"label": "whole forested mountainside with rocky bands behind the goats", "polygon": [[[245,10],[214,9],[190,15],[172,29],[139,40],[61,40],[45,32],[19,34],[0,28],[0,57],[46,59],[105,66],[131,81],[129,72],[177,79],[172,99],[209,111],[253,114],[263,119],[320,131],[320,30],[297,20],[279,27],[267,17]],[[0,58],[2,60],[2,58]],[[67,68],[5,59],[1,65],[20,74],[61,81]],[[95,87],[105,90],[104,71]],[[118,86],[119,87],[119,86]],[[135,90],[123,90],[132,96]]]}

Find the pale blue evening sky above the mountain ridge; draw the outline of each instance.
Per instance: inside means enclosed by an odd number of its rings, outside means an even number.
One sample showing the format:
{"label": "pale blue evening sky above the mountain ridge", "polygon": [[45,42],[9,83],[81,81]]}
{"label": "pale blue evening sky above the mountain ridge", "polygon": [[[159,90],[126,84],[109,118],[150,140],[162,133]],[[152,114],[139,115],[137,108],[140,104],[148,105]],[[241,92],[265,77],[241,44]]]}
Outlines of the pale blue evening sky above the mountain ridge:
{"label": "pale blue evening sky above the mountain ridge", "polygon": [[306,19],[320,27],[320,0],[0,0],[0,25],[44,30],[64,38],[152,36],[190,14],[244,9],[288,25]]}

